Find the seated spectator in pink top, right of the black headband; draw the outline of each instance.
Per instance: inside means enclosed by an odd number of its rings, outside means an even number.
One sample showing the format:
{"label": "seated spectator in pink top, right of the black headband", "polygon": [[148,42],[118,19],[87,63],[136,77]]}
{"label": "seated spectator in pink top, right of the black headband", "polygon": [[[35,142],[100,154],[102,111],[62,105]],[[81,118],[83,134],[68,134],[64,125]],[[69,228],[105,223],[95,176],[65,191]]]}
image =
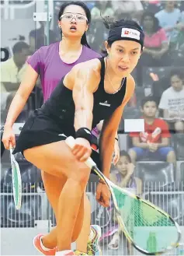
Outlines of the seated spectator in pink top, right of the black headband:
{"label": "seated spectator in pink top, right of the black headband", "polygon": [[151,12],[144,12],[141,26],[145,33],[141,64],[144,66],[169,65],[168,38],[165,30],[159,26],[158,19]]}

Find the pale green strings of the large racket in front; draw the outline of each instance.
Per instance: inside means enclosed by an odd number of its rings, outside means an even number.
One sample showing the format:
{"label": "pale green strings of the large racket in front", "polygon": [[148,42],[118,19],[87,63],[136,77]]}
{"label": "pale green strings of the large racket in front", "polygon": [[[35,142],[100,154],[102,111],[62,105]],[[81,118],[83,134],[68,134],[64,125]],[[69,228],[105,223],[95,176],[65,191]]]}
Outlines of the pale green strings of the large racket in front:
{"label": "pale green strings of the large racket in front", "polygon": [[137,246],[149,253],[165,251],[178,240],[178,230],[166,214],[138,198],[113,188],[119,223]]}

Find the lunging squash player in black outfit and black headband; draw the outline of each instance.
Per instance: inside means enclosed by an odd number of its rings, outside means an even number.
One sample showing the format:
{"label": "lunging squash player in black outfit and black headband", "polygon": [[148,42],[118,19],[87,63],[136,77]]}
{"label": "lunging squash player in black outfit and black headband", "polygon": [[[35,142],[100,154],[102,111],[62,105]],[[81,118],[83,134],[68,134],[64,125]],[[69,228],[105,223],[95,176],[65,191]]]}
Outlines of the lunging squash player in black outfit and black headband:
{"label": "lunging squash player in black outfit and black headband", "polygon": [[[133,20],[111,24],[106,41],[108,57],[75,65],[50,99],[26,121],[19,135],[14,153],[22,152],[40,170],[64,181],[54,202],[56,255],[75,255],[71,241],[82,228],[85,188],[91,171],[85,160],[91,156],[109,178],[116,130],[123,108],[134,93],[130,72],[137,65],[143,44],[144,33]],[[101,120],[105,121],[98,154],[90,147],[91,131]],[[75,137],[72,150],[64,142],[69,135]],[[107,207],[109,198],[106,184],[99,181],[97,201]]]}

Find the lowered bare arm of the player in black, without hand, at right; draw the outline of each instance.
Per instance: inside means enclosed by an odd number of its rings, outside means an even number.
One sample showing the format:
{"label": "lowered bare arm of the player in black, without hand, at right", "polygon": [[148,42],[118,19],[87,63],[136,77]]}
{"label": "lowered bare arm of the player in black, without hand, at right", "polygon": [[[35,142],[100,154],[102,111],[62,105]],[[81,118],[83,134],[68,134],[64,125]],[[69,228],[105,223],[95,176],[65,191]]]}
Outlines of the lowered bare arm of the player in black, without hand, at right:
{"label": "lowered bare arm of the player in black, without hand, at right", "polygon": [[114,111],[109,120],[103,122],[102,132],[99,139],[99,154],[102,163],[102,173],[108,178],[113,157],[116,131],[120,124],[123,109],[130,100],[130,97],[133,95],[134,88],[135,82],[133,77],[130,75],[127,78],[127,89],[122,104]]}

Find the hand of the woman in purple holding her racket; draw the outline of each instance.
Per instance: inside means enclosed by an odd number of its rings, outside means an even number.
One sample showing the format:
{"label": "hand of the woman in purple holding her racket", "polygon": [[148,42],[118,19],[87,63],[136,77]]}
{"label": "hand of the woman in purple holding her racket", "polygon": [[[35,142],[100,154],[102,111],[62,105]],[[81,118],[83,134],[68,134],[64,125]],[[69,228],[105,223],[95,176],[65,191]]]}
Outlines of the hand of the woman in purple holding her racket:
{"label": "hand of the woman in purple holding her racket", "polygon": [[13,148],[15,148],[15,146],[16,146],[16,136],[15,136],[14,132],[12,131],[11,126],[5,126],[4,127],[4,132],[3,132],[3,135],[2,135],[2,142],[5,146],[5,149],[9,149],[10,144]]}

